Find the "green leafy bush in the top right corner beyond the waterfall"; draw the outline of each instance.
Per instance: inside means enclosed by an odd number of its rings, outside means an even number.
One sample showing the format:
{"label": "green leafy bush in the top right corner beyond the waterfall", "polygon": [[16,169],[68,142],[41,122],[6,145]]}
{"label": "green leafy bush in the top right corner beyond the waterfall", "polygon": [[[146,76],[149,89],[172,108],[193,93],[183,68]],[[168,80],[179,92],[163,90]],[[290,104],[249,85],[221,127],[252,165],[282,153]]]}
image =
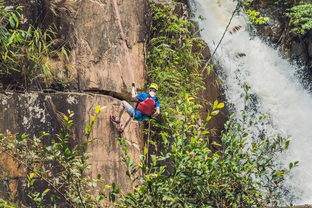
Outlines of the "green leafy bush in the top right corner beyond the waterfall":
{"label": "green leafy bush in the top right corner beyond the waterfall", "polygon": [[291,31],[298,36],[307,34],[312,29],[312,4],[301,3],[287,9],[286,15],[293,26]]}

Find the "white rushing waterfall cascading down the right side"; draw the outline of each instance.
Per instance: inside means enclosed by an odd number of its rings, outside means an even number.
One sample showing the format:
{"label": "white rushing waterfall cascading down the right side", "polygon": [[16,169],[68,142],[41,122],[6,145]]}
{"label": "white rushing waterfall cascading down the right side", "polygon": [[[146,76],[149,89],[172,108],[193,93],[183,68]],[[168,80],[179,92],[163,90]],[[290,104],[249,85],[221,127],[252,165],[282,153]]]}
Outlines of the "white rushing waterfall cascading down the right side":
{"label": "white rushing waterfall cascading down the right side", "polygon": [[[211,53],[222,37],[236,2],[232,0],[192,0],[194,18],[199,23],[201,37],[208,43]],[[200,18],[199,18],[200,16]],[[230,34],[226,32],[222,46],[215,58],[220,58],[227,104],[233,105],[240,115],[243,109],[244,82],[251,87],[249,94],[256,97],[257,115],[267,113],[271,124],[260,126],[269,135],[292,135],[291,145],[280,162],[288,167],[290,162],[300,161],[284,186],[291,194],[285,194],[286,203],[312,204],[312,96],[303,89],[295,76],[296,67],[283,59],[279,52],[259,38],[252,38],[242,16],[232,19],[229,30],[242,28]],[[236,53],[245,57],[234,58]],[[290,199],[291,195],[296,200]]]}

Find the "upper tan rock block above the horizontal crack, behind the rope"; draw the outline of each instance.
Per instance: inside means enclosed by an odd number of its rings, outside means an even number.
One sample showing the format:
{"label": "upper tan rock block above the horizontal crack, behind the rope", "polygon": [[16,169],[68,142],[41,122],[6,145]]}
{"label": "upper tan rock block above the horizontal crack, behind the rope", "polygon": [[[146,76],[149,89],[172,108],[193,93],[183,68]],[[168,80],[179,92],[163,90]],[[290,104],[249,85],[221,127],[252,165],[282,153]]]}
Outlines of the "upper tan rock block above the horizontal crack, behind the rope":
{"label": "upper tan rock block above the horizontal crack, behind the rope", "polygon": [[[119,0],[118,9],[129,47],[137,87],[145,83],[144,66],[146,40],[151,27],[148,0]],[[71,13],[73,25],[69,34],[73,45],[75,82],[78,90],[104,90],[126,96],[132,78],[122,45],[120,28],[113,0],[82,0],[76,13]]]}

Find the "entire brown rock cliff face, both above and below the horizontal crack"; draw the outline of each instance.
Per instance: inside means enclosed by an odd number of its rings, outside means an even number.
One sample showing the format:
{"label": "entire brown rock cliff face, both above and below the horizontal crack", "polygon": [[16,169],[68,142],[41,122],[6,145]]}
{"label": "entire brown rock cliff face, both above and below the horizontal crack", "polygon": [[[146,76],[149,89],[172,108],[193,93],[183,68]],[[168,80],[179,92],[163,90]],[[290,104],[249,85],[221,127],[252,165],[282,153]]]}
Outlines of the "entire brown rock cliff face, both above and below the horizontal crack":
{"label": "entire brown rock cliff face, both above and below the horizontal crack", "polygon": [[[69,0],[67,0],[69,1]],[[74,92],[8,92],[0,94],[0,132],[26,133],[30,137],[38,136],[39,131],[50,133],[51,138],[59,132],[61,126],[52,111],[49,101],[56,110],[66,113],[74,111],[72,144],[84,140],[85,125],[95,106],[107,106],[96,121],[93,136],[98,137],[89,151],[92,169],[90,177],[101,174],[107,184],[116,182],[124,191],[129,191],[126,165],[120,157],[123,149],[118,144],[121,137],[117,124],[110,121],[110,114],[117,114],[121,99],[131,97],[132,78],[123,47],[120,28],[113,6],[113,0],[71,1],[73,8],[60,17],[53,17],[47,10],[49,0],[22,2],[24,24],[45,24],[55,21],[59,28],[59,38],[68,40],[71,48],[70,65],[67,71],[72,78],[70,90]],[[12,5],[20,1],[11,0]],[[137,87],[145,84],[146,42],[150,33],[151,11],[148,0],[117,0],[125,38],[130,52]],[[62,70],[62,63],[53,60],[55,67]],[[98,94],[96,94],[98,93]],[[119,99],[117,99],[119,98]],[[122,121],[126,118],[124,118]],[[126,129],[131,156],[139,161],[143,145],[143,125],[132,122]],[[46,141],[47,144],[49,141]],[[22,196],[25,188],[24,169],[17,169],[16,163],[0,155],[0,170],[7,172],[7,183],[1,184],[0,190],[12,192],[17,199],[27,205],[28,197]],[[2,195],[3,193],[0,193]],[[28,204],[29,205],[29,204]]]}

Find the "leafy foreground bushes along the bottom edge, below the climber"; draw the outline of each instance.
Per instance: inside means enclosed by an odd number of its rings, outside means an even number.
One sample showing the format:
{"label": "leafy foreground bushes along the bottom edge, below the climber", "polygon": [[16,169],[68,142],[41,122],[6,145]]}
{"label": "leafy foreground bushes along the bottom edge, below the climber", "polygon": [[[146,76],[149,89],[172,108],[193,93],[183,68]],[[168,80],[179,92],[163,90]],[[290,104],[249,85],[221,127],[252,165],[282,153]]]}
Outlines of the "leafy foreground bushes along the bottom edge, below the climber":
{"label": "leafy foreground bushes along the bottom edge, below the climber", "polygon": [[[186,94],[185,102],[177,101],[180,109],[179,119],[167,119],[169,131],[160,132],[164,151],[148,158],[147,147],[141,156],[141,162],[134,164],[129,156],[126,140],[121,139],[125,149],[122,156],[127,163],[126,173],[132,181],[133,192],[124,194],[115,183],[104,186],[98,196],[90,190],[101,183],[101,175],[96,180],[84,177],[90,169],[88,145],[94,121],[101,108],[96,108],[96,116],[91,117],[86,126],[86,140],[79,146],[68,147],[71,135],[67,130],[73,125],[69,117],[64,116],[64,128],[45,146],[42,138],[48,134],[42,132],[39,138],[28,139],[27,135],[0,135],[0,151],[24,165],[30,171],[27,175],[28,196],[39,208],[47,203],[55,207],[57,199],[66,202],[69,207],[96,208],[103,203],[114,202],[118,208],[238,208],[267,207],[279,204],[277,190],[285,176],[298,162],[291,163],[289,169],[279,170],[273,164],[275,156],[289,147],[288,138],[280,135],[268,137],[262,141],[249,142],[254,137],[250,129],[261,124],[266,118],[260,116],[257,121],[248,121],[247,101],[249,87],[246,84],[245,108],[237,123],[232,117],[224,125],[221,144],[209,142],[209,131],[200,119],[194,119],[198,105]],[[215,102],[211,115],[224,106]],[[169,141],[173,141],[169,144]],[[220,146],[220,151],[212,153],[212,145]],[[166,147],[170,146],[171,151]],[[52,164],[57,172],[48,169]],[[39,178],[48,187],[38,191],[34,183]],[[47,194],[50,200],[47,200]]]}

